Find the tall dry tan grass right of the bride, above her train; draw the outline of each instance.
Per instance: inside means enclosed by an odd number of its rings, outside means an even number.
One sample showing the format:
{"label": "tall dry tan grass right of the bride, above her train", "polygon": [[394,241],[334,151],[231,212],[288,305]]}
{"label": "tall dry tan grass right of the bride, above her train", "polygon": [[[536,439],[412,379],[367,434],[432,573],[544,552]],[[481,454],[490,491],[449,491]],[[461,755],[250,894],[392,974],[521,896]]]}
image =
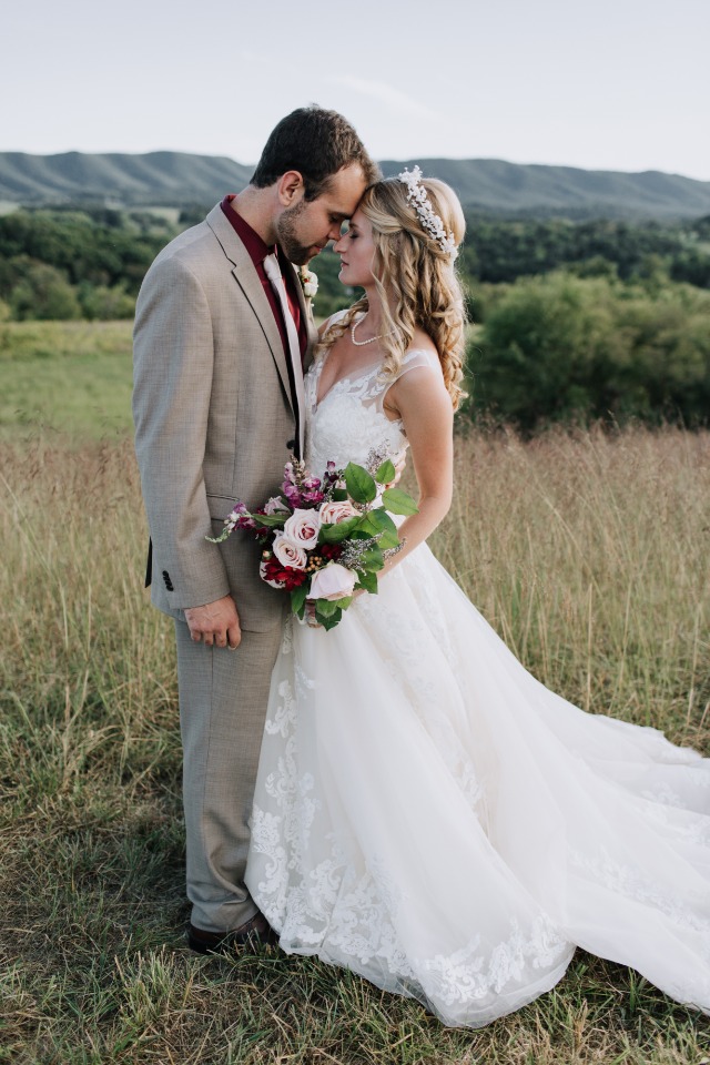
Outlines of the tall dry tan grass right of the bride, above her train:
{"label": "tall dry tan grass right of the bride, above her train", "polygon": [[433,547],[539,680],[710,740],[710,435],[473,434]]}

